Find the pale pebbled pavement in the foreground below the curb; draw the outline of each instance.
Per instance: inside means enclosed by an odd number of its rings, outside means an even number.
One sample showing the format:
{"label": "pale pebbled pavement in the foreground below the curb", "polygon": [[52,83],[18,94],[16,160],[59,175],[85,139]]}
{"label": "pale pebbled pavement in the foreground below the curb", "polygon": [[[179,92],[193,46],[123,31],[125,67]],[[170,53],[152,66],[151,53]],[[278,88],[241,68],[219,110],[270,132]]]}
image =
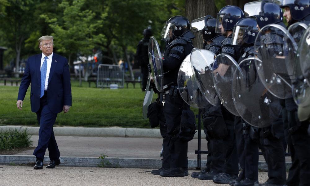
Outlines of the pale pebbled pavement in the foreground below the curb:
{"label": "pale pebbled pavement in the foreground below the curb", "polygon": [[[147,170],[149,171],[149,170]],[[190,170],[189,174],[193,171]],[[259,182],[267,180],[267,172],[259,172]],[[0,185],[203,185],[219,186],[211,180],[186,177],[161,177],[145,169],[57,167],[34,170],[32,166],[0,166]]]}

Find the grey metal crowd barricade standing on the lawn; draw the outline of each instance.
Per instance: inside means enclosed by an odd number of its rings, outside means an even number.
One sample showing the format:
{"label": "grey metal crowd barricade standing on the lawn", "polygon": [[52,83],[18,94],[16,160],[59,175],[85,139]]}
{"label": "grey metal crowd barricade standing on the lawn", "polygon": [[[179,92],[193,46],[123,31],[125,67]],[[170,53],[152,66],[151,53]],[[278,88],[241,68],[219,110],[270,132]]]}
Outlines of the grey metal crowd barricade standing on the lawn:
{"label": "grey metal crowd barricade standing on the lawn", "polygon": [[125,69],[121,65],[100,64],[97,72],[97,87],[110,87],[117,84],[118,88],[124,88]]}

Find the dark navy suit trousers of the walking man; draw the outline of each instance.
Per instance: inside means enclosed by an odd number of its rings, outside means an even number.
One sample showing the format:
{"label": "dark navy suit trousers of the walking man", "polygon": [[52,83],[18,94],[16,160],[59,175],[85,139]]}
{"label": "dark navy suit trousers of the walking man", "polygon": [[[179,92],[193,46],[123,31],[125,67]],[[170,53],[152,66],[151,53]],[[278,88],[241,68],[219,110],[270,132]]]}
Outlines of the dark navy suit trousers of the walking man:
{"label": "dark navy suit trousers of the walking man", "polygon": [[54,136],[53,125],[55,123],[57,114],[52,113],[47,105],[47,93],[44,92],[40,99],[40,109],[36,112],[39,129],[39,141],[37,148],[34,149],[33,155],[38,159],[43,160],[45,151],[48,148],[50,160],[56,160],[60,157],[60,152]]}

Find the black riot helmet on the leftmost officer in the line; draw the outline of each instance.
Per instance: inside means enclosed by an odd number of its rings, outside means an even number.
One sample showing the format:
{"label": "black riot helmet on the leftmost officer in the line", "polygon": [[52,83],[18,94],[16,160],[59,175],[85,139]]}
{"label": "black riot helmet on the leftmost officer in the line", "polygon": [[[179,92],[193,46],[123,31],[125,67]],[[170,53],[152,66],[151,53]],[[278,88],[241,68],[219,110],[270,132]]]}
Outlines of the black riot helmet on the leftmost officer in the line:
{"label": "black riot helmet on the leftmost officer in the line", "polygon": [[191,25],[189,20],[186,17],[181,15],[177,15],[171,17],[167,22],[165,27],[162,29],[161,36],[166,41],[170,39],[179,38],[184,33],[189,32],[191,29]]}

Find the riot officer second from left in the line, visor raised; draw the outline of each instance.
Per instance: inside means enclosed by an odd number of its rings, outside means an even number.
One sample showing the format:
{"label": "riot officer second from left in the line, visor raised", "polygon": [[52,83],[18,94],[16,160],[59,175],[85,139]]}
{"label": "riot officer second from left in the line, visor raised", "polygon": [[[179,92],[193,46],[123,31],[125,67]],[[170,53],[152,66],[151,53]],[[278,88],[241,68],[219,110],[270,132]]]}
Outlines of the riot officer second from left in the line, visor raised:
{"label": "riot officer second from left in the line, visor raised", "polygon": [[[222,41],[225,39],[225,36],[223,36],[221,33],[216,33],[215,32],[215,28],[216,28],[216,19],[213,18],[211,15],[206,15],[205,17],[199,18],[197,19],[197,24],[198,24],[198,20],[202,20],[203,22],[203,27],[198,28],[199,26],[197,26],[197,29],[194,31],[200,31],[204,44],[203,44],[203,48],[206,50],[209,50],[215,54],[218,54],[219,49],[222,47]],[[194,22],[195,20],[193,20]],[[192,22],[192,23],[193,23]],[[204,132],[206,134],[206,140],[208,141],[207,146],[208,146],[208,156],[207,156],[207,163],[206,163],[206,168],[204,170],[201,170],[200,172],[193,172],[192,173],[192,177],[193,178],[198,178],[199,174],[206,174],[208,172],[210,172],[210,170],[212,170],[213,172],[220,172],[221,171],[221,166],[220,168],[218,168],[219,163],[217,162],[217,158],[212,158],[212,152],[214,150],[212,150],[212,148],[218,148],[219,146],[222,145],[222,141],[215,139],[214,138],[214,134],[210,134],[212,133],[212,130],[208,130],[208,124],[209,121],[206,122],[206,118],[208,117],[208,110],[212,105],[209,104],[206,108],[202,108],[201,109],[201,113],[202,113],[202,120],[203,120],[203,124],[204,124]],[[217,126],[216,126],[217,127]],[[213,141],[213,142],[211,142]],[[212,146],[211,146],[212,144]],[[215,149],[216,151],[216,149]],[[222,162],[220,162],[222,163]],[[200,178],[202,178],[203,176],[200,176]]]}

